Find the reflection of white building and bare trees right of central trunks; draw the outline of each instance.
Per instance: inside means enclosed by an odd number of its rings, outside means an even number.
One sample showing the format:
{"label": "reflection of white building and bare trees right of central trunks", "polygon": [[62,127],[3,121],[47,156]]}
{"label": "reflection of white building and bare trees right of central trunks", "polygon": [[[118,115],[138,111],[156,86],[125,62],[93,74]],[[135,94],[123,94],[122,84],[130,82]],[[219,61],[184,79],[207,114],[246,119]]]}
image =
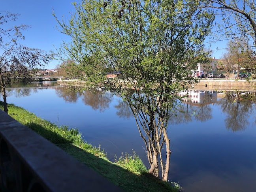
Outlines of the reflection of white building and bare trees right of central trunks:
{"label": "reflection of white building and bare trees right of central trunks", "polygon": [[[222,97],[217,100],[218,97]],[[254,92],[239,91],[195,91],[187,90],[180,93],[184,98],[183,105],[176,115],[171,116],[169,124],[192,122],[194,119],[205,122],[213,118],[211,105],[220,105],[222,112],[226,114],[225,127],[232,132],[245,130],[249,124],[248,118],[255,108]]]}

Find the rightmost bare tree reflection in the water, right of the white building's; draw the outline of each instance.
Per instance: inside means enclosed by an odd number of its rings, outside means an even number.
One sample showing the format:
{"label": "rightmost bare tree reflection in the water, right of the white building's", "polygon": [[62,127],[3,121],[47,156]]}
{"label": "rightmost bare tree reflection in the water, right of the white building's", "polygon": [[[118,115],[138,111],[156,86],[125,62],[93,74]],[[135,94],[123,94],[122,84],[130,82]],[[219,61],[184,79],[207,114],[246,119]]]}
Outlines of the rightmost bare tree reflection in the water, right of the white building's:
{"label": "rightmost bare tree reflection in the water, right of the white building's", "polygon": [[255,96],[252,93],[226,91],[225,97],[220,99],[218,105],[227,114],[225,126],[228,130],[245,130],[248,126],[247,119],[255,107]]}

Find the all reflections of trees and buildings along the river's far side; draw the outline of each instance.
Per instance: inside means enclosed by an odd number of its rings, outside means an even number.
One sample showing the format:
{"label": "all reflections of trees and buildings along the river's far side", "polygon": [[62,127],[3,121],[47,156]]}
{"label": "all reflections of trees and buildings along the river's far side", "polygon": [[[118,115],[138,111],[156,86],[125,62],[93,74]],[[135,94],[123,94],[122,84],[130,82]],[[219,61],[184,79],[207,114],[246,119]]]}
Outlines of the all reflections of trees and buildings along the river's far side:
{"label": "all reflections of trees and buildings along the river's far side", "polygon": [[[6,88],[6,92],[8,97],[18,98],[30,96],[32,93],[37,93],[38,89],[44,88],[55,89],[56,95],[63,98],[65,102],[75,103],[81,98],[85,105],[89,105],[92,109],[100,112],[108,109],[113,100],[113,94],[101,88],[82,91],[77,87],[60,86],[56,82],[50,81],[11,84]],[[256,101],[254,92],[186,90],[179,95],[186,96],[186,98],[184,98],[183,105],[178,109],[177,113],[169,118],[168,124],[210,120],[213,118],[212,105],[216,104],[226,114],[225,127],[232,132],[247,128],[249,124],[248,118],[254,111]],[[116,114],[118,117],[123,119],[133,117],[130,107],[125,102],[119,98],[116,103],[114,107],[117,109]]]}

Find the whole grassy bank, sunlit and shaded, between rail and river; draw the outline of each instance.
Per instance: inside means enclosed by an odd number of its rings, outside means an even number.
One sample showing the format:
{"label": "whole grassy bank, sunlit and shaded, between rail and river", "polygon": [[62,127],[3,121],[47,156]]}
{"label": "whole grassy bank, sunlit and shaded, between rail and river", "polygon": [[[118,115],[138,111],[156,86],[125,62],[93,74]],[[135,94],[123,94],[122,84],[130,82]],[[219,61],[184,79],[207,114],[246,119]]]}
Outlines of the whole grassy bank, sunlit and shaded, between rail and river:
{"label": "whole grassy bank, sunlit and shaded, between rail and river", "polygon": [[[0,101],[0,109],[3,110],[3,107],[3,102]],[[8,104],[8,110],[11,117],[55,143],[123,190],[132,192],[179,191],[179,186],[174,187],[175,183],[162,182],[149,175],[148,169],[145,168],[135,152],[126,153],[116,159],[116,163],[112,163],[107,160],[107,154],[104,150],[83,141],[77,129],[69,129],[67,126],[59,127],[12,104]]]}

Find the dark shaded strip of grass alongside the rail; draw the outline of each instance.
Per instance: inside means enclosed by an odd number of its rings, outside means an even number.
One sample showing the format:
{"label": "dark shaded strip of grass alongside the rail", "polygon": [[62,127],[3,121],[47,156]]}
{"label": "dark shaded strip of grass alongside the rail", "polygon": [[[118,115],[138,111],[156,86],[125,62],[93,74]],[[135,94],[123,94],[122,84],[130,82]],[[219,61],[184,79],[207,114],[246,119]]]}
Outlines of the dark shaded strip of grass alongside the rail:
{"label": "dark shaded strip of grass alongside the rail", "polygon": [[[100,175],[107,178],[109,181],[119,186],[123,190],[131,192],[161,192],[172,191],[164,185],[164,183],[151,175],[136,175],[117,164],[111,163],[106,158],[98,157],[98,154],[92,154],[85,151],[81,147],[74,145],[64,137],[58,135],[56,132],[47,130],[40,124],[30,122],[25,126],[34,130],[36,133],[45,137],[47,140],[55,143],[63,151],[67,152],[80,162],[87,165],[89,168],[100,173]],[[72,175],[70,175],[72,177]],[[97,186],[95,186],[97,188]]]}

